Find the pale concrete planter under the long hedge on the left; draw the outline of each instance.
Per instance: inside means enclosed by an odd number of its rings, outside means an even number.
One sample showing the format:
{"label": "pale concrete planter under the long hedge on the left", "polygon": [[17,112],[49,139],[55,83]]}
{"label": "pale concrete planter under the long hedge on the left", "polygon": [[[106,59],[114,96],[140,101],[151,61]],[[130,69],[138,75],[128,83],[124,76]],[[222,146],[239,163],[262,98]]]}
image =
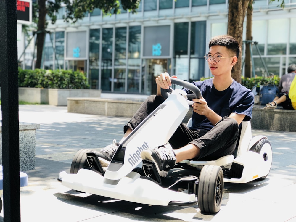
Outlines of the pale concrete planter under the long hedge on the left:
{"label": "pale concrete planter under the long hedge on the left", "polygon": [[98,89],[41,89],[19,87],[19,100],[32,103],[67,106],[68,97],[97,97],[101,96]]}

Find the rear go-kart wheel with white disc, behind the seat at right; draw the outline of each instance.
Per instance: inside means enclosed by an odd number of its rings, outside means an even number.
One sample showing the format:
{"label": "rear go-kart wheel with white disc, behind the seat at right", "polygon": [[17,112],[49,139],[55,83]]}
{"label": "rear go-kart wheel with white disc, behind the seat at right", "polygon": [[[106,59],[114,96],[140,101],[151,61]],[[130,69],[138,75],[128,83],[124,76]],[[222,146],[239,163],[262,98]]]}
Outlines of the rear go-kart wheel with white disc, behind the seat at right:
{"label": "rear go-kart wheel with white disc, behind the seat at right", "polygon": [[253,152],[259,153],[264,160],[264,168],[268,170],[268,173],[265,176],[258,178],[259,180],[260,179],[263,180],[267,177],[271,169],[271,164],[272,164],[271,144],[266,138],[262,138],[260,139],[260,141],[257,142],[257,144],[254,144],[250,150]]}

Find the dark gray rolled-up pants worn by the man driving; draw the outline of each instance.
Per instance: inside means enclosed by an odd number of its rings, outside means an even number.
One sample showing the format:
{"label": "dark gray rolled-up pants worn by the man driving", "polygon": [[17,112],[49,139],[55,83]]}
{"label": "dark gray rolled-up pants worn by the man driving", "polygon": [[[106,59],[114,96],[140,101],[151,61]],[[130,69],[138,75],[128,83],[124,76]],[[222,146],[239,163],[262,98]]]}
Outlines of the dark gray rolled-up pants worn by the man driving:
{"label": "dark gray rolled-up pants worn by the man driving", "polygon": [[[163,101],[164,99],[161,96],[149,96],[124,126],[124,132],[127,128],[136,128]],[[210,131],[192,131],[181,123],[170,138],[169,143],[173,149],[184,147],[189,143],[194,144],[200,148],[198,160],[216,160],[234,152],[238,136],[239,126],[236,120],[223,117]]]}

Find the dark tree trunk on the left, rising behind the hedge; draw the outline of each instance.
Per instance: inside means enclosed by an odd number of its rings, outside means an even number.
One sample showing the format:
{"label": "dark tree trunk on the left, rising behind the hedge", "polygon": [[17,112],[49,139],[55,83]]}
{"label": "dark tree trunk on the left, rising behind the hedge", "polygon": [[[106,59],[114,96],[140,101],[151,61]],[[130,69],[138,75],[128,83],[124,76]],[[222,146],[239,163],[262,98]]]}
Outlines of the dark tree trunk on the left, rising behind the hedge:
{"label": "dark tree trunk on the left, rising behind the hedge", "polygon": [[45,26],[46,26],[46,0],[39,0],[39,19],[38,19],[38,28],[37,28],[37,38],[36,38],[36,47],[37,47],[37,57],[35,68],[41,68],[42,52],[44,46],[45,38]]}

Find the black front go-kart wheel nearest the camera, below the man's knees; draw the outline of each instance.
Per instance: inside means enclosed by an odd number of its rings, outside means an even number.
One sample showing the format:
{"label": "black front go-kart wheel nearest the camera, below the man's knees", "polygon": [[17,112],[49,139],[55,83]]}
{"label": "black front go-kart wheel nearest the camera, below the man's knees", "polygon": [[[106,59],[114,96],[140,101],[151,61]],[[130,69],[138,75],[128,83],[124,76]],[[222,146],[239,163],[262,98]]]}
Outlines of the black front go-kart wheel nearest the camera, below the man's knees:
{"label": "black front go-kart wheel nearest the camera, below the man's knees", "polygon": [[223,171],[220,166],[205,165],[200,171],[197,203],[201,212],[217,213],[223,195]]}

